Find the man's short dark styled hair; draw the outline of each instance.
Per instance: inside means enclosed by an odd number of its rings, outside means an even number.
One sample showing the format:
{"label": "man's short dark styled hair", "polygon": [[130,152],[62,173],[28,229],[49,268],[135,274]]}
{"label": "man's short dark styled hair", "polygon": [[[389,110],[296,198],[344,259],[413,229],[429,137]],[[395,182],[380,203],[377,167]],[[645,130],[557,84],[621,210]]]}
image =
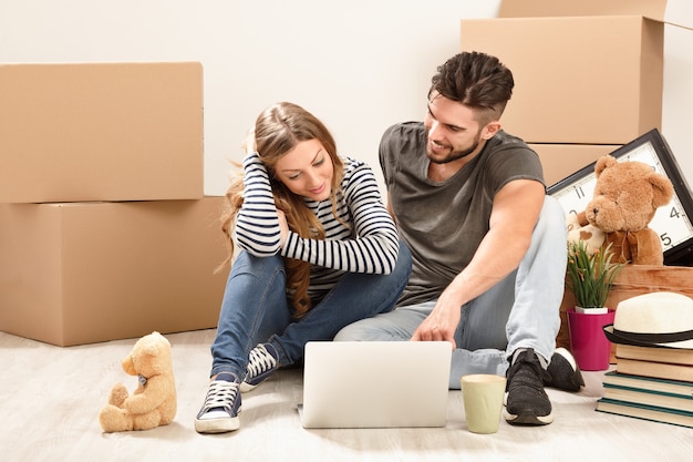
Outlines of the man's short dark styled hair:
{"label": "man's short dark styled hair", "polygon": [[431,79],[428,99],[435,91],[477,113],[484,125],[500,119],[513,95],[513,73],[498,58],[477,51],[462,52],[438,66]]}

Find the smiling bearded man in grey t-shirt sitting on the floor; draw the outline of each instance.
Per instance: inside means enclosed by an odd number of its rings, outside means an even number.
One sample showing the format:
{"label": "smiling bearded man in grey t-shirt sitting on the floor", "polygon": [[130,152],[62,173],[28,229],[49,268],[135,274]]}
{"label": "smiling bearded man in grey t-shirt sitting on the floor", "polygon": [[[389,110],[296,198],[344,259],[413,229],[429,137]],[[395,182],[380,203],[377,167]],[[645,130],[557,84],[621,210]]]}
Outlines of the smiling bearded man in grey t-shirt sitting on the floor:
{"label": "smiling bearded man in grey t-shirt sitting on the floor", "polygon": [[537,154],[499,122],[513,86],[497,58],[459,53],[432,79],[424,122],[385,132],[389,209],[412,276],[395,310],[335,340],[449,341],[451,388],[467,373],[506,373],[505,419],[540,425],[554,420],[544,387],[583,381],[570,353],[555,351],[565,215]]}

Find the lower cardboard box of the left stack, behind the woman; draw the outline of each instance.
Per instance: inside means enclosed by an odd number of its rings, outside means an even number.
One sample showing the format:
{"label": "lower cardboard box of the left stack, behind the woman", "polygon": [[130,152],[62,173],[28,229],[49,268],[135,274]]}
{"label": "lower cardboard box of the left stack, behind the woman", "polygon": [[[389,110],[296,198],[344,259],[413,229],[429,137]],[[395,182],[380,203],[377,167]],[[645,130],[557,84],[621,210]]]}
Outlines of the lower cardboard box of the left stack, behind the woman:
{"label": "lower cardboard box of the left stack, behind the woman", "polygon": [[0,204],[0,330],[71,346],[214,328],[223,201]]}

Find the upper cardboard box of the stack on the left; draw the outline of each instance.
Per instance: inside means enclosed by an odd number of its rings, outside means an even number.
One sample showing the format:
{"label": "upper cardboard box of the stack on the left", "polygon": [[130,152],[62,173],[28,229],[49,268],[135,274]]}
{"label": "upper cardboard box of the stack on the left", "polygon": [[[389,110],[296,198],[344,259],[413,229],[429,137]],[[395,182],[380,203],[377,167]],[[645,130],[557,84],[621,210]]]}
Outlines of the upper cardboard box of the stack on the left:
{"label": "upper cardboard box of the stack on the left", "polygon": [[0,202],[199,199],[199,63],[0,65]]}

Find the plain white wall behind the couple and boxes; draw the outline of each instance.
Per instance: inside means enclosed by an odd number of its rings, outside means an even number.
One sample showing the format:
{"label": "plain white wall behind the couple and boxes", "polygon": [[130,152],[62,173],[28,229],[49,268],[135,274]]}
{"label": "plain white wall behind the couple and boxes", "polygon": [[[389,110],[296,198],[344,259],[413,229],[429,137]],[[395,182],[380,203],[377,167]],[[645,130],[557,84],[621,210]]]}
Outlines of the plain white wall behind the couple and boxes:
{"label": "plain white wall behind the couple and boxes", "polygon": [[[686,2],[687,3],[687,2]],[[500,0],[0,0],[0,62],[200,61],[205,193],[256,115],[288,100],[380,175],[382,131],[421,120],[435,68],[459,51],[459,19]],[[693,16],[693,4],[683,7]],[[663,134],[693,184],[693,31],[668,27]]]}

